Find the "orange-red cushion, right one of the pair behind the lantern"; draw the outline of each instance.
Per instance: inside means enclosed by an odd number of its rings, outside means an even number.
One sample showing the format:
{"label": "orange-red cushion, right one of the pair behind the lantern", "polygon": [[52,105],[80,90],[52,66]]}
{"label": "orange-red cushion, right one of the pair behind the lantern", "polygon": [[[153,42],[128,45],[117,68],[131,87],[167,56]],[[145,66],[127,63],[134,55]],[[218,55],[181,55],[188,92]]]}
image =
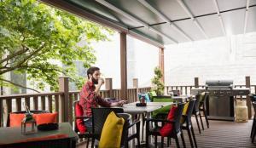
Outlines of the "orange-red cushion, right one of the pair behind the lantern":
{"label": "orange-red cushion, right one of the pair behind the lantern", "polygon": [[43,114],[34,114],[33,117],[35,117],[37,121],[37,125],[45,124],[45,123],[51,123],[51,122],[57,122],[57,115],[58,113],[43,113]]}

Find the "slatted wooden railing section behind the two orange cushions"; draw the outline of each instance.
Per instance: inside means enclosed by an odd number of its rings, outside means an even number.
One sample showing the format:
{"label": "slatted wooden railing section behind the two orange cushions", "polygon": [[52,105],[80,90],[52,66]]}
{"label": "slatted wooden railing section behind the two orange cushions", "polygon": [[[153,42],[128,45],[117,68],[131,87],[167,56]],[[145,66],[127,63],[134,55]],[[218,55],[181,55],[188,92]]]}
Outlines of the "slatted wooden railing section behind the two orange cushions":
{"label": "slatted wooden railing section behind the two orange cushions", "polygon": [[[42,93],[42,94],[14,94],[0,96],[0,125],[3,127],[3,122],[6,122],[7,116],[10,112],[24,111],[23,102],[30,110],[47,110],[50,112],[59,112],[57,120],[63,121],[64,107],[64,93]],[[3,103],[5,107],[3,110]]]}

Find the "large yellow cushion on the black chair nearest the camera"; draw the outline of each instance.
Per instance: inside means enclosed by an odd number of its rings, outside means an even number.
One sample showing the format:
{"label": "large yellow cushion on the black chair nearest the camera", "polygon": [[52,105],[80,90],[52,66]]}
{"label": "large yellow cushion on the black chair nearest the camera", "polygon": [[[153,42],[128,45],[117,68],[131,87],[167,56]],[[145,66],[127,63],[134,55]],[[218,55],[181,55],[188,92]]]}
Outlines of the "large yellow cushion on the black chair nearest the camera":
{"label": "large yellow cushion on the black chair nearest the camera", "polygon": [[124,124],[125,119],[117,117],[113,111],[110,112],[102,128],[99,148],[119,148]]}

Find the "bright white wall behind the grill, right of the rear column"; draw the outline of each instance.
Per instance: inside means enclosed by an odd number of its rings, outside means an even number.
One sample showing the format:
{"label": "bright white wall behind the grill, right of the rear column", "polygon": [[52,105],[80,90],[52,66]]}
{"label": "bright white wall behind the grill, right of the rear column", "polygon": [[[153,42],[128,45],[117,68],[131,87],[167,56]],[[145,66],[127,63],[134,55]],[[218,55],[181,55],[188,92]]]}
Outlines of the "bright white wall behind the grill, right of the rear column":
{"label": "bright white wall behind the grill, right of the rear column", "polygon": [[166,85],[193,85],[194,77],[256,84],[256,33],[166,46]]}

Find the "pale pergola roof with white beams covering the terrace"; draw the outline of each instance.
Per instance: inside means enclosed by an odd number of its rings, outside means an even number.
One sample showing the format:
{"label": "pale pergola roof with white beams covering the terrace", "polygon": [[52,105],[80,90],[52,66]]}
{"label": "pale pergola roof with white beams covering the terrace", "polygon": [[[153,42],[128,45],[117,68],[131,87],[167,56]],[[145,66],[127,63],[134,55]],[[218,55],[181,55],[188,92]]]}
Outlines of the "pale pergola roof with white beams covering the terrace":
{"label": "pale pergola roof with white beams covering the terrace", "polygon": [[42,0],[155,46],[256,31],[256,1]]}

